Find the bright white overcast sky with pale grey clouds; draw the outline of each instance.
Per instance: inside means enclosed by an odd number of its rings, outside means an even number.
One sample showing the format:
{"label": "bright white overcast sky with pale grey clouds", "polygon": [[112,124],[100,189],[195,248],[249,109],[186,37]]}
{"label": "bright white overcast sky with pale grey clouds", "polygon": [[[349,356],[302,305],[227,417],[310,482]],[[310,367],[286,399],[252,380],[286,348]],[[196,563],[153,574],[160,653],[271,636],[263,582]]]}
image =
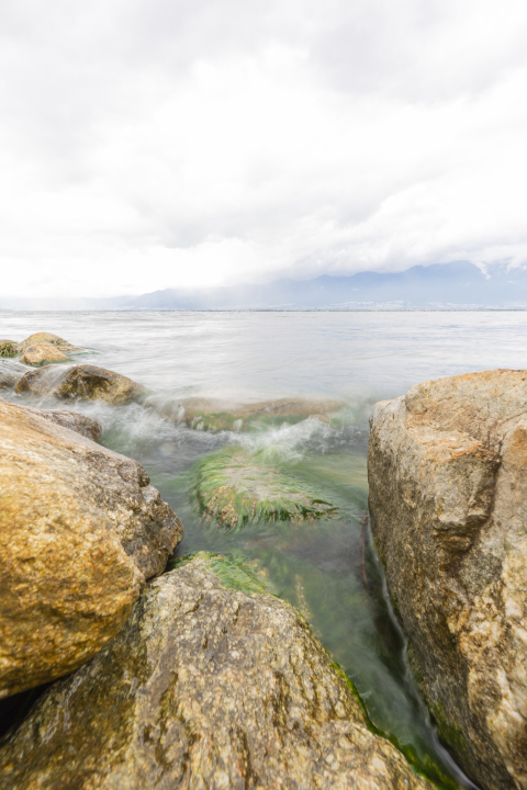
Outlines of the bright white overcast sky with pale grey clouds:
{"label": "bright white overcast sky with pale grey clouds", "polygon": [[2,297],[527,263],[522,0],[3,0]]}

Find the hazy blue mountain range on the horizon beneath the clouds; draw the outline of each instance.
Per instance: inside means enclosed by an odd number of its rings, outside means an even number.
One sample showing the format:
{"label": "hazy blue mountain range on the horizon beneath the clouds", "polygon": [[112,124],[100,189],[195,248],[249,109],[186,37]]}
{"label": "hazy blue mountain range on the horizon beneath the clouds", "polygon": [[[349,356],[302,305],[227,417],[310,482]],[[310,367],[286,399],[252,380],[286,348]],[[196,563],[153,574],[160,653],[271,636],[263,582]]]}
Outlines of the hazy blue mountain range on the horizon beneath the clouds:
{"label": "hazy blue mountain range on the horizon beneath the clouds", "polygon": [[0,300],[0,309],[527,309],[527,268],[494,264],[486,274],[468,261],[415,266],[403,272],[323,274],[264,285],[166,289],[106,300]]}

